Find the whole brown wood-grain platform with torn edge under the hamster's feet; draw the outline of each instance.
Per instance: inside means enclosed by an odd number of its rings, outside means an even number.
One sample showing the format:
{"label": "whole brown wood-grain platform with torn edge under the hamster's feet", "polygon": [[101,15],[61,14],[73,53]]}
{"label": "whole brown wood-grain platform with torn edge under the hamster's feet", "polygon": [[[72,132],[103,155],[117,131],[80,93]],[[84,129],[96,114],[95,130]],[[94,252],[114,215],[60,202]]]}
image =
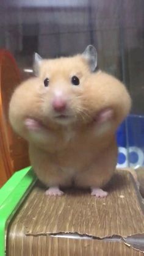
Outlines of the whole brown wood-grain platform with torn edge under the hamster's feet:
{"label": "whole brown wood-grain platform with torn edge under the hamster's feet", "polygon": [[[107,190],[106,199],[73,189],[66,190],[65,196],[49,197],[36,184],[9,226],[7,255],[142,255],[120,242],[121,237],[144,233],[142,198],[132,175],[118,171]],[[51,236],[59,233],[88,237]],[[99,240],[107,237],[110,242]]]}

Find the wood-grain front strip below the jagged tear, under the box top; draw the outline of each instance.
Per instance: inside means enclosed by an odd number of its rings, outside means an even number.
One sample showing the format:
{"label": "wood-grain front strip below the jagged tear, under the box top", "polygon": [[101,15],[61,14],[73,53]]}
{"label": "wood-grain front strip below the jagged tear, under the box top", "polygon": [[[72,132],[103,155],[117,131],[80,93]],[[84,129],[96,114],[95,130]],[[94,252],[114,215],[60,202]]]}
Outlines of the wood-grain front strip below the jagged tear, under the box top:
{"label": "wood-grain front strip below the jagged tear, under the box top", "polygon": [[26,236],[21,247],[19,239],[17,237],[15,243],[9,243],[8,256],[143,256],[142,252],[122,242]]}

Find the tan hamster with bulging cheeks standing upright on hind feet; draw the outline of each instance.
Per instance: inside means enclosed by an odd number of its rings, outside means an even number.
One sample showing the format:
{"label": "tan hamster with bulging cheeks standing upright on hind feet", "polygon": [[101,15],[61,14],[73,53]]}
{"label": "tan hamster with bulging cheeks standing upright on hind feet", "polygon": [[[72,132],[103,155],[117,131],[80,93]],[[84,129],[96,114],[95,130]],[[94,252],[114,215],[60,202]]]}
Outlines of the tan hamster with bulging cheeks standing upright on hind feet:
{"label": "tan hamster with bulging cheeks standing upright on hind feet", "polygon": [[47,195],[60,187],[90,188],[106,197],[103,187],[117,165],[115,132],[131,109],[124,85],[99,70],[96,49],[58,59],[35,54],[37,77],[27,79],[12,95],[9,119],[29,142],[29,156]]}

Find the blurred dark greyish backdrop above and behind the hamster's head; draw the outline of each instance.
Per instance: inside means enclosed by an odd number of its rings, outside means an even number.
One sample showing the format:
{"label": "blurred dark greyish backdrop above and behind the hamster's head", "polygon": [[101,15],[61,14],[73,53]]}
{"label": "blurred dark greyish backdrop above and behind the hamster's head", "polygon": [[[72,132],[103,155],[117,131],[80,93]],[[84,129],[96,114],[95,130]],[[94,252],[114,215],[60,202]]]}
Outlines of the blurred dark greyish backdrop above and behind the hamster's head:
{"label": "blurred dark greyish backdrop above and behind the hamster's head", "polygon": [[68,56],[88,44],[98,50],[99,68],[129,89],[132,113],[144,113],[143,0],[1,0],[0,48],[21,70],[32,55]]}

